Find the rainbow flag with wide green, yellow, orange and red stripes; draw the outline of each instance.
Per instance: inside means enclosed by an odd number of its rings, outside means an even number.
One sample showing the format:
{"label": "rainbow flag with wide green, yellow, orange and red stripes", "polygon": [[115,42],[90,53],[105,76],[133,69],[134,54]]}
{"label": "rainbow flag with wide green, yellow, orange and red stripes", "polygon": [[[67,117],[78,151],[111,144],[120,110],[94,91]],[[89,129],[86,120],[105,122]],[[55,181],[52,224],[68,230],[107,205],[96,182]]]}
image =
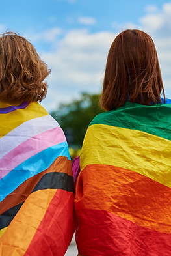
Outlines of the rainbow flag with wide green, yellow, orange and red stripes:
{"label": "rainbow flag with wide green, yellow, orange and red stripes", "polygon": [[123,107],[88,126],[75,188],[88,256],[171,255],[171,104]]}

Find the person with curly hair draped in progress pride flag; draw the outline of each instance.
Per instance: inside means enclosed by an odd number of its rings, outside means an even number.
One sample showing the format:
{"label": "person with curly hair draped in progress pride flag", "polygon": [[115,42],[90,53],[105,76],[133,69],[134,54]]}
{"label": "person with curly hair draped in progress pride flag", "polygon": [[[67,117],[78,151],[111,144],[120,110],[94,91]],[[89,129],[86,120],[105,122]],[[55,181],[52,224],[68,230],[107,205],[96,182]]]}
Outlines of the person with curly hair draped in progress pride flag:
{"label": "person with curly hair draped in progress pride flag", "polygon": [[16,33],[0,36],[0,255],[63,256],[74,231],[66,138],[40,106],[50,70]]}

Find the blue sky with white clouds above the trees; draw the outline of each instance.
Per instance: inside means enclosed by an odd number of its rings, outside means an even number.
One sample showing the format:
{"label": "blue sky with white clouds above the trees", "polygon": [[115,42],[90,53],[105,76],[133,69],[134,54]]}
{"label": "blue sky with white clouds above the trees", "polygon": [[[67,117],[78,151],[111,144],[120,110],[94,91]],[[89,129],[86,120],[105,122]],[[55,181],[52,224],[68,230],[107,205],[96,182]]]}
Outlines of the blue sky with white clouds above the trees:
{"label": "blue sky with white clouds above the trees", "polygon": [[27,38],[51,69],[41,103],[49,112],[81,92],[101,92],[109,48],[124,29],[141,29],[153,38],[171,98],[171,1],[1,1],[0,33]]}

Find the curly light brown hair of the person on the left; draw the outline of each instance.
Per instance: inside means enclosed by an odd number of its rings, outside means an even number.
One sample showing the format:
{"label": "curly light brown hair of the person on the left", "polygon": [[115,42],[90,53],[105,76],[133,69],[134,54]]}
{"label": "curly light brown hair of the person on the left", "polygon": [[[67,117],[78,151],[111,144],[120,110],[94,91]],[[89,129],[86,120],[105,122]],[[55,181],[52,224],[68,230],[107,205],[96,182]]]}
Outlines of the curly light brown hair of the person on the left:
{"label": "curly light brown hair of the person on the left", "polygon": [[0,35],[0,99],[41,102],[49,75],[34,46],[14,32]]}

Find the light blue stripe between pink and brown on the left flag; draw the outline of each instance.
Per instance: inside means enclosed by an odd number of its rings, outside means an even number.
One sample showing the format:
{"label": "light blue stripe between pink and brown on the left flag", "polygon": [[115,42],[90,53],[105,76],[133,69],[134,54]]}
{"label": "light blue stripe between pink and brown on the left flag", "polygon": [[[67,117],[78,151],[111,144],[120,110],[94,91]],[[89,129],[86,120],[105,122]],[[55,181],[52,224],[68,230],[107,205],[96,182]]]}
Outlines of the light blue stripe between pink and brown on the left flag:
{"label": "light blue stripe between pink and brown on the left flag", "polygon": [[18,188],[25,180],[49,168],[59,156],[66,156],[70,160],[70,152],[66,142],[43,150],[10,171],[8,175],[0,180],[0,201],[3,201],[9,193]]}

